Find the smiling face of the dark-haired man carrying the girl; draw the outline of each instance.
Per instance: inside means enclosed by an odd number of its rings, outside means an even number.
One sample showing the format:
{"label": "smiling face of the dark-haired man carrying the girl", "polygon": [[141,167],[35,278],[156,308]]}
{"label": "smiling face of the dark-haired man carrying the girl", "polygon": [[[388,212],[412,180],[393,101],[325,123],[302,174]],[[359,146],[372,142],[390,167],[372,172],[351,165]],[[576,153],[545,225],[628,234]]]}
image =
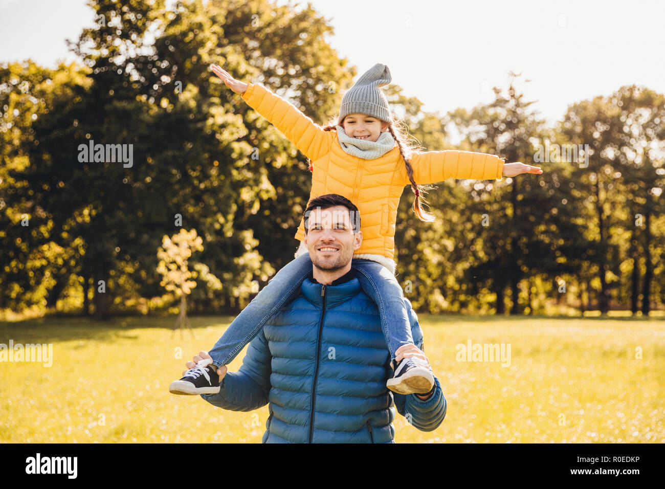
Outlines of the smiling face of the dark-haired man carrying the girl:
{"label": "smiling face of the dark-haired man carrying the girl", "polygon": [[344,206],[309,212],[305,246],[315,267],[325,271],[342,269],[360,247],[362,233],[358,230],[354,234],[350,212]]}

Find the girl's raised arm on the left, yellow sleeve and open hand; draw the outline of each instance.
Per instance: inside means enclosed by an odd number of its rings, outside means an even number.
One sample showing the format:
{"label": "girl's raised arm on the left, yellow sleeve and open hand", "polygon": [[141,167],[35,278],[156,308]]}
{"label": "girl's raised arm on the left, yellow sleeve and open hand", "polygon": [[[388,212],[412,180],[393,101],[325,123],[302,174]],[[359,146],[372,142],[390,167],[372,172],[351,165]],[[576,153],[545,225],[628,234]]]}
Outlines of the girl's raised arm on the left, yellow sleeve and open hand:
{"label": "girl's raised arm on the left, yellow sleeve and open hand", "polygon": [[211,69],[231,90],[242,95],[247,104],[267,118],[296,148],[313,162],[331,149],[332,134],[315,124],[293,104],[271,92],[265,86],[235,80],[216,65]]}

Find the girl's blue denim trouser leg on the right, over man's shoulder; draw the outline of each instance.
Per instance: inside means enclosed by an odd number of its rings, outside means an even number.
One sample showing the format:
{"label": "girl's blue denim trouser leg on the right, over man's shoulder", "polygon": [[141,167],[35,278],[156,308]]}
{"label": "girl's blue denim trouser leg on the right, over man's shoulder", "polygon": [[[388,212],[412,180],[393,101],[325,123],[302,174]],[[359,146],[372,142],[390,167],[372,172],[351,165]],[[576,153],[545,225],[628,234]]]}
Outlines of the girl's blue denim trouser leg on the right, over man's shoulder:
{"label": "girl's blue denim trouser leg on the right, over man's shoulder", "polygon": [[351,265],[358,272],[356,277],[364,292],[378,305],[381,326],[392,361],[400,346],[414,344],[402,286],[386,267],[376,261],[356,258]]}

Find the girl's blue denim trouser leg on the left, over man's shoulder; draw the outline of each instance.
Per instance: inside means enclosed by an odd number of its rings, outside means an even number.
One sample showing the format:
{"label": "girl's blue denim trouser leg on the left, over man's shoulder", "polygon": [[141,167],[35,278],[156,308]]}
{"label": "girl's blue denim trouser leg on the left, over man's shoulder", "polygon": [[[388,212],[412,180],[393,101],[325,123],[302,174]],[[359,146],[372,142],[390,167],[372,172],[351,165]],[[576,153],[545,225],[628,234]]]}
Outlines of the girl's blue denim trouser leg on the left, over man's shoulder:
{"label": "girl's blue denim trouser leg on the left, over man's shoulder", "polygon": [[312,261],[305,254],[285,265],[267,283],[256,297],[241,311],[224,331],[215,346],[208,352],[213,365],[228,365],[265,324],[301,289],[307,274],[312,271]]}

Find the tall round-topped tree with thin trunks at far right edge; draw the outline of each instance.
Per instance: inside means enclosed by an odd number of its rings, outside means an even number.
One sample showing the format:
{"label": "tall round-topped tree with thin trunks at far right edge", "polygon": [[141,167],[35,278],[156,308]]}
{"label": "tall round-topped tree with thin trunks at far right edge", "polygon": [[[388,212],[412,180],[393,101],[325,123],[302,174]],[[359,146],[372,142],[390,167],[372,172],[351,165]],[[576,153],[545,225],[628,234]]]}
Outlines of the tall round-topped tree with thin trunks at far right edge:
{"label": "tall round-topped tree with thin trunks at far right edge", "polygon": [[648,315],[655,266],[652,249],[663,253],[662,239],[652,238],[654,230],[662,236],[652,219],[663,214],[663,204],[656,198],[665,184],[663,120],[662,94],[633,85],[571,105],[561,124],[570,140],[590,146],[589,166],[578,168],[576,178],[592,209],[586,216],[595,246],[587,258],[597,270],[603,314],[609,309],[612,288],[617,299],[621,297],[623,255],[629,260],[630,309],[638,310],[641,254],[642,313]]}

